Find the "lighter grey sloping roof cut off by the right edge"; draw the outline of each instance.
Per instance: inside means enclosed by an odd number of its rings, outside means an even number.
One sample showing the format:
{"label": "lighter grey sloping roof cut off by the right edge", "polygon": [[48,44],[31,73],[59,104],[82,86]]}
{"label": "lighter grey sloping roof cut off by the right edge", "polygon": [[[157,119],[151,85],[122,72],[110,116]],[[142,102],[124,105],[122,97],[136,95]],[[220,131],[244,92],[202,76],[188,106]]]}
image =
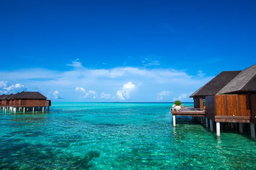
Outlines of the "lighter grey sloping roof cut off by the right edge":
{"label": "lighter grey sloping roof cut off by the right edge", "polygon": [[241,71],[231,82],[218,93],[230,94],[241,91],[256,91],[256,64]]}

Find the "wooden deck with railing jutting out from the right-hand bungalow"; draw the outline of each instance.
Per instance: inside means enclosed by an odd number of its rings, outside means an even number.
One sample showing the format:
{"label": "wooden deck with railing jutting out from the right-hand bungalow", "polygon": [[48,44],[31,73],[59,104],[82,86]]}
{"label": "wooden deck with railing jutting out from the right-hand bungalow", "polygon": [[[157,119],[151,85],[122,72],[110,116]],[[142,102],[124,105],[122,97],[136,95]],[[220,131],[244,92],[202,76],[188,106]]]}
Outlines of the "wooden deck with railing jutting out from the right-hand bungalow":
{"label": "wooden deck with railing jutting out from the right-hand bungalow", "polygon": [[195,109],[195,108],[181,108],[180,111],[171,109],[173,116],[201,116],[204,117],[204,109]]}

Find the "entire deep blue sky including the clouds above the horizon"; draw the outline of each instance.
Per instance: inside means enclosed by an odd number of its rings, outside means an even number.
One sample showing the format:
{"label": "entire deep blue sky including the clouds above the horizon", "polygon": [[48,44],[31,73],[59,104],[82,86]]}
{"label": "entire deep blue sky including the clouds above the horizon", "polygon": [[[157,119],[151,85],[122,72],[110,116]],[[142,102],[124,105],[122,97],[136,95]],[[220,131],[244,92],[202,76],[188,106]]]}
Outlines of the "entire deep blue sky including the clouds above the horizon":
{"label": "entire deep blue sky including the clouds above the horizon", "polygon": [[183,102],[256,63],[256,2],[0,1],[0,93]]}

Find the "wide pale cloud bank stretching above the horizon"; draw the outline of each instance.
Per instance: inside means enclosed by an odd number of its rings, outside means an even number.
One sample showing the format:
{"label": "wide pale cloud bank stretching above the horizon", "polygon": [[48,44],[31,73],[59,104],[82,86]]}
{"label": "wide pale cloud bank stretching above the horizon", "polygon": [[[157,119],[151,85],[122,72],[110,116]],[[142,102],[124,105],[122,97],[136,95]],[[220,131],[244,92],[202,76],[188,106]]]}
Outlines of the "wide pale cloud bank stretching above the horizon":
{"label": "wide pale cloud bank stretching above the horizon", "polygon": [[[131,58],[131,57],[129,57]],[[144,59],[142,67],[85,68],[79,59],[68,63],[68,71],[27,68],[0,71],[0,94],[39,91],[52,101],[86,102],[191,102],[189,95],[212,76],[199,70],[157,68],[159,61]],[[152,66],[148,68],[146,66]]]}

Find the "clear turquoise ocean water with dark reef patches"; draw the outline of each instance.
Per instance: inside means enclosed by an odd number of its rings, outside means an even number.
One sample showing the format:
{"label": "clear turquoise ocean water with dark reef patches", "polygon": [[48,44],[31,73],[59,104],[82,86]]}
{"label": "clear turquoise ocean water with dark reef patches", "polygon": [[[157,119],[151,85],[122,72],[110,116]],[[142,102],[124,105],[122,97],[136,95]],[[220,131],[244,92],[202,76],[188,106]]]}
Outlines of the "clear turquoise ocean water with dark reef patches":
{"label": "clear turquoise ocean water with dark reef patches", "polygon": [[217,139],[191,117],[177,117],[173,127],[171,106],[53,102],[44,113],[0,110],[0,169],[256,169],[249,132],[222,125]]}

